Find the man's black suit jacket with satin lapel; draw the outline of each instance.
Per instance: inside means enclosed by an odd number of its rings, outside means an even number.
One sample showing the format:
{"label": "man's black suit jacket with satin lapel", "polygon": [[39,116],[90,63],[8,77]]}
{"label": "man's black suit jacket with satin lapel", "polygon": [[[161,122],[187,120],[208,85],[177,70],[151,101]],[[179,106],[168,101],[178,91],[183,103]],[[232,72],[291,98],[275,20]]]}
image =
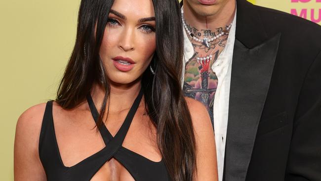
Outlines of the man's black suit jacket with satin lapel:
{"label": "man's black suit jacket with satin lapel", "polygon": [[225,181],[321,181],[321,26],[237,0]]}

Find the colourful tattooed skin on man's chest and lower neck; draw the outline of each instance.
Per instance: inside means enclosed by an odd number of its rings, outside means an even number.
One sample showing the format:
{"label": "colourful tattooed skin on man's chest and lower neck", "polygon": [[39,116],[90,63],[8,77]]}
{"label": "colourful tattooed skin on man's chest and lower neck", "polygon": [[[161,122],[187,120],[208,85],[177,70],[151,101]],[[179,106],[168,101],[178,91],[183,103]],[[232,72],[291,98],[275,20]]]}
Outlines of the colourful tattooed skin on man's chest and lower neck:
{"label": "colourful tattooed skin on man's chest and lower neck", "polygon": [[[215,31],[198,30],[190,25],[187,25],[187,27],[200,39],[213,37],[224,30],[223,28],[218,28]],[[183,93],[185,96],[199,100],[205,105],[213,125],[213,104],[218,80],[211,67],[223,51],[228,35],[224,35],[211,42],[209,47],[193,41],[191,37],[189,38],[194,48],[194,55],[185,65]],[[211,61],[202,64],[197,62],[197,57],[204,57],[210,53],[212,53]]]}

